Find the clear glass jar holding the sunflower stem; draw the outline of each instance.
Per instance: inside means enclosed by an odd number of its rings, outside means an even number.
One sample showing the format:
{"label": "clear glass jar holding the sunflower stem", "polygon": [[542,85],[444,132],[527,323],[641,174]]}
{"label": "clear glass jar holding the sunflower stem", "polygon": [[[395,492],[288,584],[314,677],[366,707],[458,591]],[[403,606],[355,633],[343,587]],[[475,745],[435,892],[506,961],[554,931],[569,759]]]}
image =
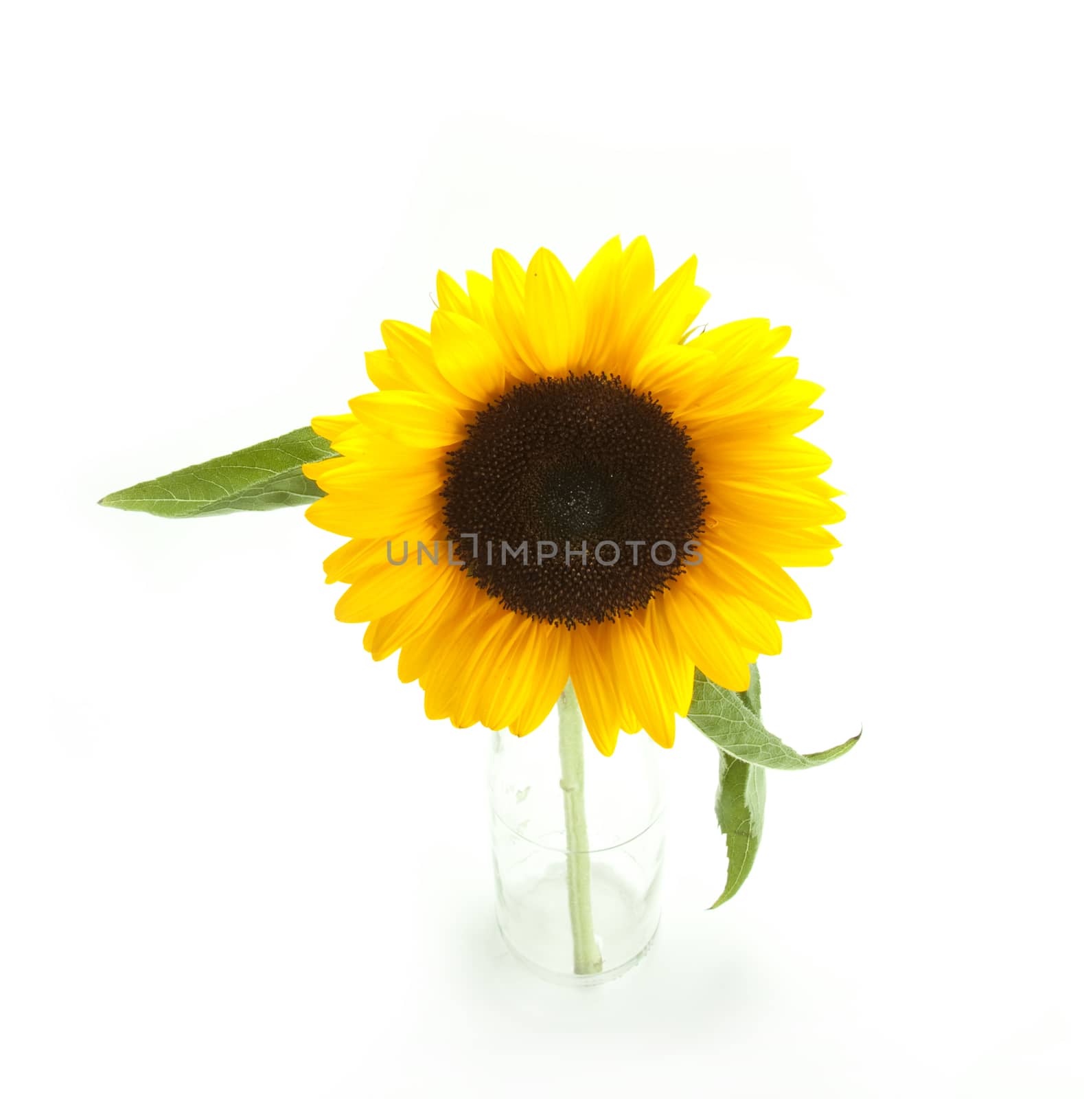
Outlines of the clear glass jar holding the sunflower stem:
{"label": "clear glass jar holding the sunflower stem", "polygon": [[599,984],[650,947],[660,914],[661,756],[647,733],[622,734],[603,756],[571,685],[528,736],[493,734],[498,924],[539,976]]}

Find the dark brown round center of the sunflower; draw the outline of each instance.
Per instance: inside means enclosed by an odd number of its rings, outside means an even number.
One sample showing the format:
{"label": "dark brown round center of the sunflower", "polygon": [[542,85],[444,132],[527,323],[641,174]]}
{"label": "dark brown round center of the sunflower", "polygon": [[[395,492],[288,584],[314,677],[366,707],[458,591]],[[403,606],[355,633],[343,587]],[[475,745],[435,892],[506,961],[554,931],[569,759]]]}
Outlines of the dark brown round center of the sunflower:
{"label": "dark brown round center of the sunflower", "polygon": [[513,611],[604,622],[684,570],[706,499],[689,434],[617,378],[547,378],[478,413],[447,458],[444,520]]}

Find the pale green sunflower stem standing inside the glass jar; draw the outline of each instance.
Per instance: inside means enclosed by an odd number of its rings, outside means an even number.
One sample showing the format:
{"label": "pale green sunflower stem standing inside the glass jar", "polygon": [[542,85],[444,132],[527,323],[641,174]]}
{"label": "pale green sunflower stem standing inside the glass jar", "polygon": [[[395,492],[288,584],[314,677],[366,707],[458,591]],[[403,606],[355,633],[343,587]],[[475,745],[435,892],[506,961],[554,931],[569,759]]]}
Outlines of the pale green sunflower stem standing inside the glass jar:
{"label": "pale green sunflower stem standing inside the glass jar", "polygon": [[602,954],[591,914],[591,855],[583,809],[583,719],[571,681],[557,701],[561,790],[565,792],[568,904],[572,918],[572,963],[577,974],[602,973]]}

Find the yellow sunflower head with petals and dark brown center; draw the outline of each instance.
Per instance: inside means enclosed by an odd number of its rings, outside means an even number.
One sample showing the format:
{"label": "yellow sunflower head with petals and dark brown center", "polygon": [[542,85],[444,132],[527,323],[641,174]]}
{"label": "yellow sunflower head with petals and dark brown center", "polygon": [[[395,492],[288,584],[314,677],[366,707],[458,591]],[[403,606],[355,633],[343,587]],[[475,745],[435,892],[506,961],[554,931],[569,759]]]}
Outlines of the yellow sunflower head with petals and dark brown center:
{"label": "yellow sunflower head with petals and dark brown center", "polygon": [[313,420],[338,456],[305,467],[308,518],[350,540],[336,617],[399,652],[429,718],[522,736],[571,679],[600,752],[669,747],[695,667],[744,690],[809,615],[785,568],[826,565],[843,514],[795,437],[822,387],[780,356],[790,329],[693,334],[695,275],[656,287],[644,237],[574,279],[498,251],[492,278],[438,274],[428,331],[388,321],[366,356],[377,391]]}

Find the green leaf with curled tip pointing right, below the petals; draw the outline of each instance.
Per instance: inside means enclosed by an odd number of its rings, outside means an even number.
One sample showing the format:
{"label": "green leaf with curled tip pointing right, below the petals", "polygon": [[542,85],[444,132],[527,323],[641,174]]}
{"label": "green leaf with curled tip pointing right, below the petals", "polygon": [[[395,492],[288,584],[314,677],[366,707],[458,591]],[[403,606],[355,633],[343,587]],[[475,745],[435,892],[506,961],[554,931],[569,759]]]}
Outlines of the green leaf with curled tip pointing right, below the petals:
{"label": "green leaf with curled tip pointing right, below the petals", "polygon": [[[759,678],[756,688],[750,679],[749,690],[745,693],[750,698],[755,697],[756,706],[759,707]],[[859,733],[858,736],[852,736],[834,748],[803,755],[787,747],[774,733],[764,729],[760,715],[750,701],[742,701],[735,691],[716,686],[699,668],[693,684],[689,720],[714,742],[716,747],[746,763],[774,767],[778,770],[805,770],[807,767],[818,767],[820,764],[837,759],[850,752],[862,735]]]}

